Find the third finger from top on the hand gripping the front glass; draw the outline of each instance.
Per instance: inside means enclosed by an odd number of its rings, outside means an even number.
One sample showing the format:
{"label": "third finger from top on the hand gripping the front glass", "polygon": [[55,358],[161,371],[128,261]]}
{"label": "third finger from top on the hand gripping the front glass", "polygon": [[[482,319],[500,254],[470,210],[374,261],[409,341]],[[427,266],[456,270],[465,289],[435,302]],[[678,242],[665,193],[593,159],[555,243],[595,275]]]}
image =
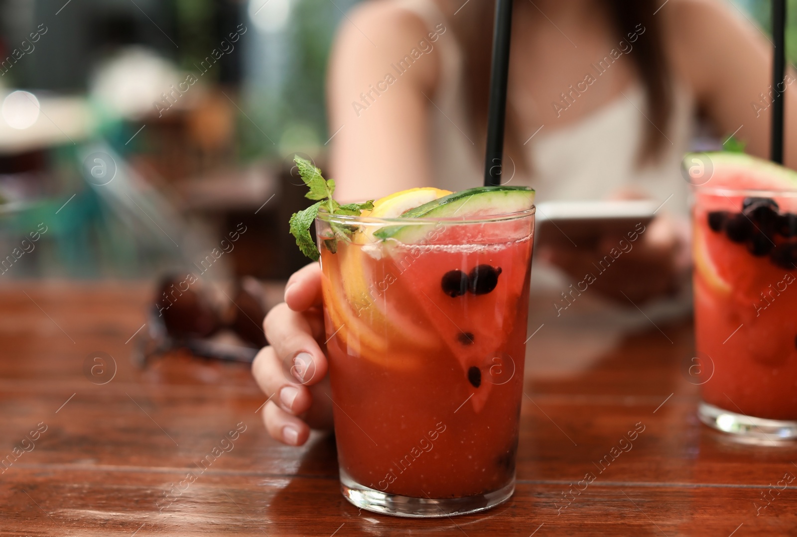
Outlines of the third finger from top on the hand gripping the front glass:
{"label": "third finger from top on the hand gripping the front glass", "polygon": [[285,370],[272,347],[257,353],[252,363],[252,376],[269,402],[293,415],[307,412],[312,405],[312,395]]}

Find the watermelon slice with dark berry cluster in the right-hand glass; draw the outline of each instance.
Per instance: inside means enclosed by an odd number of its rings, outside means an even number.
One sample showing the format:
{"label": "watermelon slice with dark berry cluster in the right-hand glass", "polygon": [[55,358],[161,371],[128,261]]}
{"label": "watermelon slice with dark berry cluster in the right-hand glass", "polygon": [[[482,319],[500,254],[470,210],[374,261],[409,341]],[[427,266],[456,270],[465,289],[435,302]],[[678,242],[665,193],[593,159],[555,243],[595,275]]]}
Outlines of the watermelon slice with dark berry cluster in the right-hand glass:
{"label": "watermelon slice with dark berry cluster in the right-hand glass", "polygon": [[797,172],[739,153],[687,155],[685,169],[702,172],[689,168],[697,159],[713,168],[695,190],[697,276],[720,296],[753,304],[797,269]]}

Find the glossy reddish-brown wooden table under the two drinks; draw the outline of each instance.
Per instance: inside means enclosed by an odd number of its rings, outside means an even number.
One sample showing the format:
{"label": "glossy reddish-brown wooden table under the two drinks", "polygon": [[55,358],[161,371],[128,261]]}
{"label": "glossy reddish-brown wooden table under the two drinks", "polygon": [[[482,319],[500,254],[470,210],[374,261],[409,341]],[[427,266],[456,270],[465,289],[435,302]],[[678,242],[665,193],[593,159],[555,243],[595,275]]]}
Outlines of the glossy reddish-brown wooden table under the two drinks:
{"label": "glossy reddish-brown wooden table under the two drinks", "polygon": [[[797,481],[774,489],[797,476],[797,447],[740,444],[697,421],[697,386],[680,372],[689,324],[660,325],[673,343],[654,327],[630,336],[569,376],[532,368],[515,496],[412,520],[344,500],[329,436],[272,441],[248,366],[181,355],[132,366],[126,342],[148,297],[143,284],[0,288],[0,455],[33,445],[0,474],[0,535],[797,535]],[[111,382],[84,376],[95,351],[115,359]],[[638,423],[633,448],[599,472]],[[233,447],[222,442],[237,427]]]}

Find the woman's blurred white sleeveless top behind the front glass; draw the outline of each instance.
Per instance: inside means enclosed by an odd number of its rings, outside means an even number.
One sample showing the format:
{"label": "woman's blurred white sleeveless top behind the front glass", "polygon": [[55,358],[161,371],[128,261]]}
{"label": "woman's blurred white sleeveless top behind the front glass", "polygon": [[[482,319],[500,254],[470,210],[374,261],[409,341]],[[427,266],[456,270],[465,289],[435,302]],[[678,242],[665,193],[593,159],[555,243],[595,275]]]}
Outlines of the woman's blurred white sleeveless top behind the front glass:
{"label": "woman's blurred white sleeveless top behind the front glass", "polygon": [[[484,180],[484,147],[473,143],[465,112],[460,46],[432,0],[405,0],[402,6],[422,18],[430,29],[440,22],[446,25],[446,32],[434,43],[442,70],[434,105],[429,105],[434,186],[454,191],[479,186]],[[518,90],[509,88],[509,100],[524,99]],[[661,158],[638,168],[638,155],[650,124],[643,115],[646,96],[638,84],[623,93],[578,123],[566,127],[543,125],[536,134],[523,133],[524,141],[533,135],[523,146],[531,177],[518,173],[503,182],[532,186],[538,202],[600,199],[631,189],[659,202],[669,198],[662,210],[686,214],[688,185],[681,177],[680,166],[693,133],[692,96],[676,86]],[[505,174],[512,174],[509,162],[505,163]]]}

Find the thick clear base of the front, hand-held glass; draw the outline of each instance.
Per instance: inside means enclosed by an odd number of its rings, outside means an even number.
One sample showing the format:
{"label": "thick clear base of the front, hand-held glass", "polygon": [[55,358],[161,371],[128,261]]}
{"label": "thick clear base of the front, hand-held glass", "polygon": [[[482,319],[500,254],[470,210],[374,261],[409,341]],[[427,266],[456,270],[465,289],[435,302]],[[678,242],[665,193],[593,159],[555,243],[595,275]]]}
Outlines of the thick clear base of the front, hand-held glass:
{"label": "thick clear base of the front, hand-held glass", "polygon": [[340,468],[340,491],[355,507],[383,515],[407,516],[413,518],[436,518],[441,516],[467,515],[494,508],[504,503],[515,492],[515,478],[497,491],[467,496],[465,498],[414,498],[388,494],[366,487],[351,479]]}

